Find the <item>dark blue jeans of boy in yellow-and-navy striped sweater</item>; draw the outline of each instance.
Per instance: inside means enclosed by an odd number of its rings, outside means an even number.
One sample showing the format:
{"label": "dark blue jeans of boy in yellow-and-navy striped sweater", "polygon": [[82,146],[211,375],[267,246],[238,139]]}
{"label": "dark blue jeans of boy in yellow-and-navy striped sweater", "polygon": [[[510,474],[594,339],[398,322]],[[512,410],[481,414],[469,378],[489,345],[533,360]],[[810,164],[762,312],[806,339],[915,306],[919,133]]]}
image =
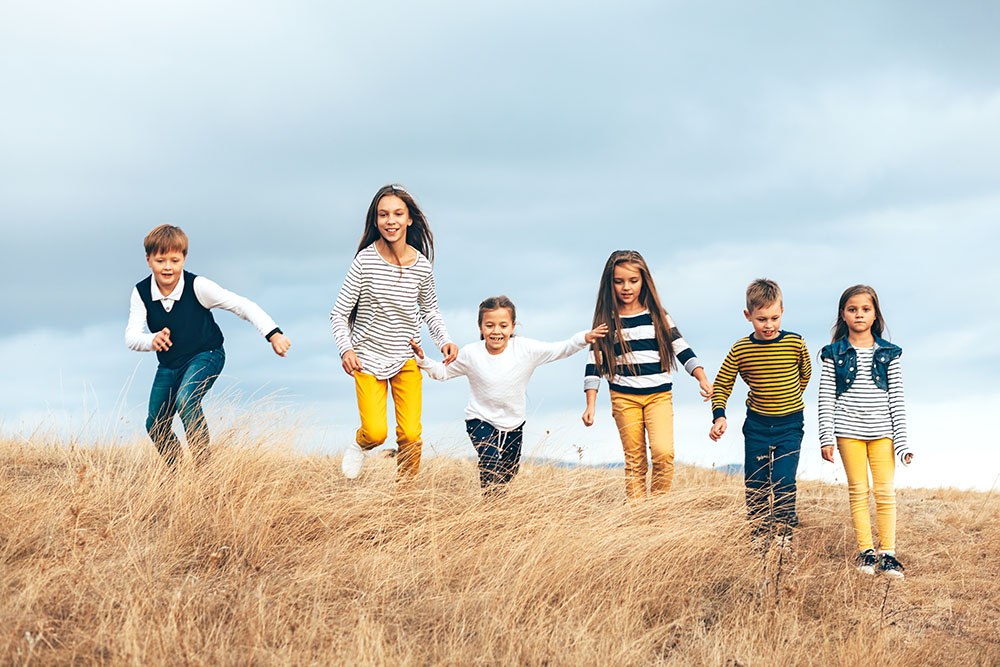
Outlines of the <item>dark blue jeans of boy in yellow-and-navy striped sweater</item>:
{"label": "dark blue jeans of boy in yellow-and-navy striped sweater", "polygon": [[769,530],[772,524],[797,526],[795,472],[802,450],[802,413],[767,417],[748,411],[743,438],[747,518],[753,530]]}

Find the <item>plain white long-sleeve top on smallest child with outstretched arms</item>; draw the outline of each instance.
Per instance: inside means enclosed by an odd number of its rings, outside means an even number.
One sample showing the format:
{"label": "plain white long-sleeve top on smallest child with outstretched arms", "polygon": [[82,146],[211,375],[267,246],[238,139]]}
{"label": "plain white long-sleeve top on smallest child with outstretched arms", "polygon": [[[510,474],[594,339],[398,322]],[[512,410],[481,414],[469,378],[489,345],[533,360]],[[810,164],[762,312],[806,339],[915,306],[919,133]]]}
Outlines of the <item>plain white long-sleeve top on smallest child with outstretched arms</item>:
{"label": "plain white long-sleeve top on smallest child with outstretched arms", "polygon": [[469,343],[458,352],[455,361],[445,366],[426,357],[417,365],[435,380],[466,376],[469,379],[469,404],[466,419],[481,419],[502,431],[524,423],[527,413],[528,380],[535,369],[550,361],[564,359],[587,346],[587,332],[569,340],[544,343],[514,336],[500,354],[486,351],[486,342]]}

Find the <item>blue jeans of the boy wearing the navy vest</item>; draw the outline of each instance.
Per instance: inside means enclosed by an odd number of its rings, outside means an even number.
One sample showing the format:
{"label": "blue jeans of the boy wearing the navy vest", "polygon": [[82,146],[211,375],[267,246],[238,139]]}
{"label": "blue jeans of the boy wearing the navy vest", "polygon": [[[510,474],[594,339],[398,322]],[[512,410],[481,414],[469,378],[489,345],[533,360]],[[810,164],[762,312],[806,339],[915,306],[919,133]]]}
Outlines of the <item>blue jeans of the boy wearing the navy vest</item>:
{"label": "blue jeans of the boy wearing the navy vest", "polygon": [[201,411],[201,401],[215,384],[225,363],[226,352],[220,347],[199,352],[180,368],[157,367],[149,391],[146,432],[167,465],[174,465],[181,450],[181,443],[171,427],[175,412],[180,412],[192,454],[198,459],[208,456],[208,425]]}

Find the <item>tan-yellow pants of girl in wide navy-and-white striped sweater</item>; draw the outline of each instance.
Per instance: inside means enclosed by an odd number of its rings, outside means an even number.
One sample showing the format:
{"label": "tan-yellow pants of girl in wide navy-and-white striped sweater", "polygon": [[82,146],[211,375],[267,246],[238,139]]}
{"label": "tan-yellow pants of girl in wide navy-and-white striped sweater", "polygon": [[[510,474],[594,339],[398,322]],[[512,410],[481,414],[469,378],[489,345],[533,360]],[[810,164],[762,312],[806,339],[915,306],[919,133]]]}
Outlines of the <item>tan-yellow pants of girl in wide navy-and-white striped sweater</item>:
{"label": "tan-yellow pants of girl in wide navy-and-white striped sweater", "polygon": [[674,402],[669,391],[656,394],[611,392],[611,414],[618,425],[625,452],[625,495],[646,497],[646,435],[653,474],[650,493],[670,491],[674,479]]}

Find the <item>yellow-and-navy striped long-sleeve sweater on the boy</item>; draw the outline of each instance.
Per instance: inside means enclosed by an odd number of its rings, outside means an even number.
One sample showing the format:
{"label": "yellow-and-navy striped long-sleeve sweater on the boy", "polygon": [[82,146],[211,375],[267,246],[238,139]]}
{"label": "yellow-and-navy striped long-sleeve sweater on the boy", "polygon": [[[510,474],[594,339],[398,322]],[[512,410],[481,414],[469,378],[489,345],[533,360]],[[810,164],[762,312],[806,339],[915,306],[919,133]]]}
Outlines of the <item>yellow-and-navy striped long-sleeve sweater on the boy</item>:
{"label": "yellow-and-navy striped long-sleeve sweater on the boy", "polygon": [[801,412],[802,392],[809,384],[812,365],[802,336],[782,331],[772,341],[759,341],[753,334],[733,344],[715,376],[712,419],[726,416],[726,402],[737,373],[750,388],[747,409],[759,415],[782,417]]}

